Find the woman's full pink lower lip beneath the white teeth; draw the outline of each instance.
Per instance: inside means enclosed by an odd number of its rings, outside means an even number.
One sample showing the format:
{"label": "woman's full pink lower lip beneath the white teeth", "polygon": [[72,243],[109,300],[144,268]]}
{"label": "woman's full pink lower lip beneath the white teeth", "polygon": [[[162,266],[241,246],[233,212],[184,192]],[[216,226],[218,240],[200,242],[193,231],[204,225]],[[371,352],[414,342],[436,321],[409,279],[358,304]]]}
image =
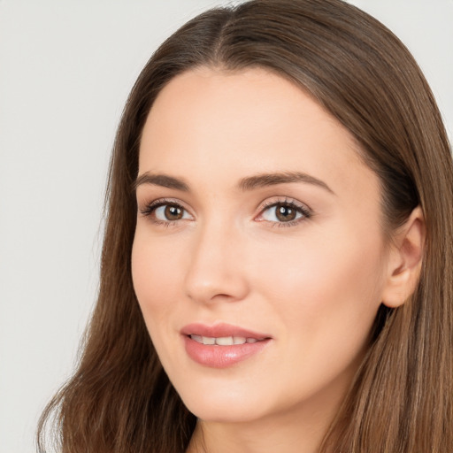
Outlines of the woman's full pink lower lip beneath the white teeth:
{"label": "woman's full pink lower lip beneath the white teeth", "polygon": [[219,346],[202,344],[184,335],[184,342],[188,357],[196,363],[211,368],[226,368],[254,356],[270,342],[269,339],[254,343],[233,344]]}

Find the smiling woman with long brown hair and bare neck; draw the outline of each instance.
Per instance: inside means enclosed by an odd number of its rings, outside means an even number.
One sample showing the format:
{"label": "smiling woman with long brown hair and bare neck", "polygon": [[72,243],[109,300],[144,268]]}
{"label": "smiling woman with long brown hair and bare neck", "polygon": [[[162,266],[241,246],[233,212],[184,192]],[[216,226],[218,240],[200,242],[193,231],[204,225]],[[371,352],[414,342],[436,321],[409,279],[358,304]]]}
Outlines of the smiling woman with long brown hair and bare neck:
{"label": "smiling woman with long brown hair and bare neck", "polygon": [[[109,183],[63,452],[447,452],[453,165],[388,29],[206,12],[150,59]],[[43,450],[43,447],[41,447]]]}

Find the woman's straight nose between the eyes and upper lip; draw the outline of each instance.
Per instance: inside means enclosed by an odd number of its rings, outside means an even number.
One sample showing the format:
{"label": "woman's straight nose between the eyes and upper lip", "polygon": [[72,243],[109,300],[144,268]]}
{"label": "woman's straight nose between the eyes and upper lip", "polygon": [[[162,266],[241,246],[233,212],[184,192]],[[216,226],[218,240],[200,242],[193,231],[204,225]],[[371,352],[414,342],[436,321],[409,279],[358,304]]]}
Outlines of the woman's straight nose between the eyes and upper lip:
{"label": "woman's straight nose between the eyes and upper lip", "polygon": [[242,239],[233,228],[204,226],[193,237],[186,295],[198,303],[237,302],[249,292]]}

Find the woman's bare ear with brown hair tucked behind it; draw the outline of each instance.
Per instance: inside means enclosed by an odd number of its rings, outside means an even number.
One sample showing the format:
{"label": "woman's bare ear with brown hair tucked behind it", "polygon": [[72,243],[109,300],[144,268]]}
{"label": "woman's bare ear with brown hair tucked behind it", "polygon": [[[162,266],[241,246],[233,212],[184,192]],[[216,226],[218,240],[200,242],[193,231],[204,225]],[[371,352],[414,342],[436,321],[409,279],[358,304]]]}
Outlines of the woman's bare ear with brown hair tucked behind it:
{"label": "woman's bare ear with brown hair tucked behind it", "polygon": [[418,206],[398,228],[389,250],[388,273],[382,303],[396,308],[413,294],[417,287],[423,260],[426,227],[423,211]]}

